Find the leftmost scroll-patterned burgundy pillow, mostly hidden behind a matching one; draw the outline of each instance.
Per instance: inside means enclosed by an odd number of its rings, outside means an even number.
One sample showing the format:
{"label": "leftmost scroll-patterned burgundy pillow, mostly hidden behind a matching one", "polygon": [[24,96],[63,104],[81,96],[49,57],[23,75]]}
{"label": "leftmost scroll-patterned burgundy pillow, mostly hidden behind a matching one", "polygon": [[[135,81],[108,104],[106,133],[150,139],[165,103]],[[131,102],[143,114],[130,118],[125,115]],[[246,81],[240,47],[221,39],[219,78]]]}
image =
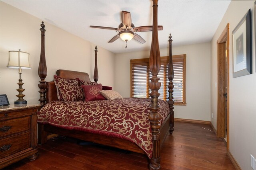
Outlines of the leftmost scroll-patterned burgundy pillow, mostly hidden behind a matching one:
{"label": "leftmost scroll-patterned burgundy pillow, mostly hidden behind a matching one", "polygon": [[57,87],[57,96],[59,100],[63,100],[62,94],[59,90],[60,87],[67,85],[67,86],[79,86],[78,79],[66,79],[61,78],[59,76],[54,75],[54,82]]}

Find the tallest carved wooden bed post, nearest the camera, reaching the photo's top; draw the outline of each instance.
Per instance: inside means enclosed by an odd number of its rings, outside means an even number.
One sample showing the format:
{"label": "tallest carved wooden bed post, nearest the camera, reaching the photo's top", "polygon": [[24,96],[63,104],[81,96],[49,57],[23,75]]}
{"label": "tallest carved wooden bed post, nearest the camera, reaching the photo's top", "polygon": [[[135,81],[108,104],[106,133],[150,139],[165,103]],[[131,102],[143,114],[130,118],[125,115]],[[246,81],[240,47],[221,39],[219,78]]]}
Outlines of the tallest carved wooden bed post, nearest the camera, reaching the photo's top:
{"label": "tallest carved wooden bed post, nearest the camera, reaching the photo's top", "polygon": [[160,50],[158,43],[158,25],[157,25],[157,2],[158,0],[153,0],[153,31],[152,31],[152,43],[150,49],[149,57],[149,69],[152,74],[150,78],[151,82],[149,87],[151,89],[151,106],[149,120],[152,129],[152,141],[153,141],[153,154],[150,159],[150,170],[160,170],[160,118],[161,115],[158,113],[158,90],[161,87],[161,83],[158,82],[160,78],[157,77],[158,72],[161,67],[160,63]]}

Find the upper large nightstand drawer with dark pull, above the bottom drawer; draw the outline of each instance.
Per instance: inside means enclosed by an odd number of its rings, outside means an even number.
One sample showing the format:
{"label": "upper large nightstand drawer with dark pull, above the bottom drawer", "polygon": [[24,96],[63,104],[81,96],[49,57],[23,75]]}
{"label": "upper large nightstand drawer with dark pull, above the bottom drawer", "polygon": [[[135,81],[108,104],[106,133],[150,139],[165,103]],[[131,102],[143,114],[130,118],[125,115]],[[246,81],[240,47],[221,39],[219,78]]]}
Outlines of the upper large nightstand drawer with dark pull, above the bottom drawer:
{"label": "upper large nightstand drawer with dark pull, above the bottom drawer", "polygon": [[31,128],[31,116],[0,121],[0,137],[19,133]]}

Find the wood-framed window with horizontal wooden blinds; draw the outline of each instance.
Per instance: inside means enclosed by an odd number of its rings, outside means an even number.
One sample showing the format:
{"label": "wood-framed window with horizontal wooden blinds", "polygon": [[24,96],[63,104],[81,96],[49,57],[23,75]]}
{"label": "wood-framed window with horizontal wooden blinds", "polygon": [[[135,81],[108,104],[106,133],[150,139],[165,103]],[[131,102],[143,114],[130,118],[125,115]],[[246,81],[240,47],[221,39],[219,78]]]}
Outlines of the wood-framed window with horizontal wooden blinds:
{"label": "wood-framed window with horizontal wooden blinds", "polygon": [[[172,56],[173,69],[174,69],[174,105],[186,105],[186,92],[185,92],[185,76],[186,76],[186,55]],[[149,59],[134,59],[130,60],[130,97],[132,98],[149,98],[150,88],[149,82],[152,77],[149,70]],[[168,64],[169,56],[161,57],[161,68],[158,73],[161,88],[158,90],[160,93],[159,99],[168,100]]]}

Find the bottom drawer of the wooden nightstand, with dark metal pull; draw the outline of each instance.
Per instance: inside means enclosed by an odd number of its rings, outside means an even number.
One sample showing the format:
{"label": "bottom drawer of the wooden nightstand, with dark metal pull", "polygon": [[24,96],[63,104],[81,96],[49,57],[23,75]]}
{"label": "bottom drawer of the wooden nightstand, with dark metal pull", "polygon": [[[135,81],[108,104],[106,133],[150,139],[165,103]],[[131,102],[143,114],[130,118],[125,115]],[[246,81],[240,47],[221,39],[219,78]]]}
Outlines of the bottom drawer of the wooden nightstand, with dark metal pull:
{"label": "bottom drawer of the wooden nightstand, with dark metal pull", "polygon": [[31,147],[31,132],[0,139],[0,159]]}

